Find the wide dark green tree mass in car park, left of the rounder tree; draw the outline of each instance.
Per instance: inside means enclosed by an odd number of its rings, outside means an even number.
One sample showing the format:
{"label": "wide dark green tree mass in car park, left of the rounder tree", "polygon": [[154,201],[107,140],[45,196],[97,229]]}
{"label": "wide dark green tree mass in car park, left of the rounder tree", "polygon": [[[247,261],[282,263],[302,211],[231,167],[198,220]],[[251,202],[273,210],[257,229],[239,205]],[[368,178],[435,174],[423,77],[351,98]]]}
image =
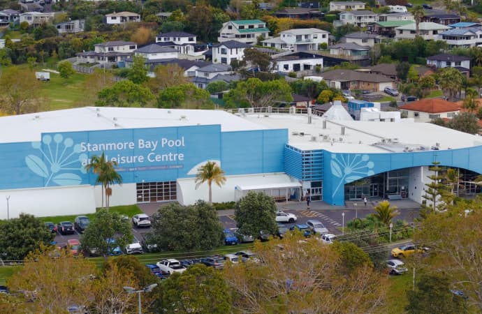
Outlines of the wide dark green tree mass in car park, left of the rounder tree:
{"label": "wide dark green tree mass in car park, left of the rounder tree", "polygon": [[203,201],[161,207],[152,216],[152,234],[152,241],[163,250],[212,250],[224,241],[216,210]]}

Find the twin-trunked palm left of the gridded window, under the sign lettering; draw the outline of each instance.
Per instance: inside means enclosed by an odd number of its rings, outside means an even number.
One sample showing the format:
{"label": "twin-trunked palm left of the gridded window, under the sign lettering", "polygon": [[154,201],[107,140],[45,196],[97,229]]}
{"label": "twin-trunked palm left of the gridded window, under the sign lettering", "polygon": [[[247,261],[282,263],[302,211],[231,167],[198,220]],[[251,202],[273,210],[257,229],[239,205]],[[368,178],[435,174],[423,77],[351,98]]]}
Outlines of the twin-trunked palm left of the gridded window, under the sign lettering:
{"label": "twin-trunked palm left of the gridded window, under the sign lettering", "polygon": [[109,210],[109,199],[112,195],[112,184],[122,185],[122,176],[115,171],[117,166],[116,161],[105,160],[105,155],[92,156],[89,165],[85,166],[87,171],[92,169],[94,174],[97,174],[96,184],[102,184],[102,206],[104,205],[104,193],[105,193],[105,207]]}

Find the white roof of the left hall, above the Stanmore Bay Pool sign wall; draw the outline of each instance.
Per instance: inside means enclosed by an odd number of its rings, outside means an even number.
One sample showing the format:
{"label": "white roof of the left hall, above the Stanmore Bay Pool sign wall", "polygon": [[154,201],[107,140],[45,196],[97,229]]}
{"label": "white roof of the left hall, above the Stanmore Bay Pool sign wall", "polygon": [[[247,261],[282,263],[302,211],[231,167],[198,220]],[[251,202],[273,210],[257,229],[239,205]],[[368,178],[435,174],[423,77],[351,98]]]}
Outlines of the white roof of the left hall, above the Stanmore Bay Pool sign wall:
{"label": "white roof of the left hall, above the Stanmore Bay Pool sign wall", "polygon": [[213,124],[221,131],[266,128],[222,110],[81,107],[0,117],[0,143],[38,141],[41,133]]}

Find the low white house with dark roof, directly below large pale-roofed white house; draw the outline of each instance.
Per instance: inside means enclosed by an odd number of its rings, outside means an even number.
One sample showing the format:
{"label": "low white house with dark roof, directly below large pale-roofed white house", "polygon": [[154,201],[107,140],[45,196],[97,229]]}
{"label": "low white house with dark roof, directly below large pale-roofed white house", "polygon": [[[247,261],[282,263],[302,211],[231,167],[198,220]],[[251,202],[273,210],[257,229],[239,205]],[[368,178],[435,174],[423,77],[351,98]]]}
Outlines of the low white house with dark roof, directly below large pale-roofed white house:
{"label": "low white house with dark roof, directly below large pale-roofed white house", "polygon": [[[272,62],[280,73],[288,74],[295,72],[300,75],[312,74],[316,70],[323,69],[323,56],[309,52],[282,52],[272,55]],[[303,73],[305,71],[305,73]]]}

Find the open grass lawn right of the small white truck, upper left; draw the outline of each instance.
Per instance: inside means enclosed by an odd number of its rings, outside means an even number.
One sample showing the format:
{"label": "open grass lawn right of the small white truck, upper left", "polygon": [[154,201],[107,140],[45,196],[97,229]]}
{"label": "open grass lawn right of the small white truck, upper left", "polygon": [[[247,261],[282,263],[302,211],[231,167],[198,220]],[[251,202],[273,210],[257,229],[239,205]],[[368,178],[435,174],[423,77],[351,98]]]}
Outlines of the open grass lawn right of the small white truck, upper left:
{"label": "open grass lawn right of the small white truck, upper left", "polygon": [[82,83],[86,79],[87,74],[83,73],[75,73],[68,79],[56,73],[50,73],[50,81],[42,83],[44,96],[48,98],[48,110],[77,107],[85,94]]}

